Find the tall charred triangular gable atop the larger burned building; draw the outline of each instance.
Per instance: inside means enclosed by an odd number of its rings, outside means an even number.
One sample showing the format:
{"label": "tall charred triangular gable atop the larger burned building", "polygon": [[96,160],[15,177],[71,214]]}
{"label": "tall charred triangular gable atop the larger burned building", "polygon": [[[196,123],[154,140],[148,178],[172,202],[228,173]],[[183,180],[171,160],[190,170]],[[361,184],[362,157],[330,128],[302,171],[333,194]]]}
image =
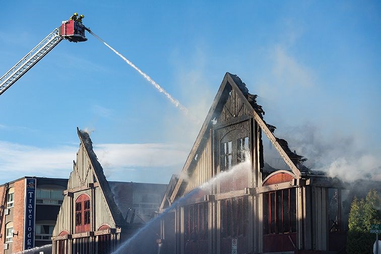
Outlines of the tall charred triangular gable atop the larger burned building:
{"label": "tall charred triangular gable atop the larger burned building", "polygon": [[[265,111],[261,105],[258,105],[256,98],[257,95],[250,94],[246,85],[238,76],[230,73],[225,74],[201,131],[173,189],[169,199],[170,202],[214,177],[219,172],[217,167],[221,153],[216,152],[220,149],[219,142],[222,142],[221,140],[233,130],[244,133],[241,136],[247,136],[252,140],[252,124],[259,126],[258,128],[267,136],[296,178],[300,178],[302,173],[307,172],[308,169],[303,166],[306,159],[292,152],[287,141],[274,136],[276,127],[265,122],[263,119]],[[223,131],[216,132],[216,130],[222,130],[222,128],[224,128]],[[234,142],[228,145],[231,144],[236,145]],[[263,162],[261,134],[259,134],[258,147],[260,155],[258,155],[257,160],[259,160],[259,167],[262,170],[265,165]],[[228,156],[228,154],[229,151],[227,151],[226,155]]]}

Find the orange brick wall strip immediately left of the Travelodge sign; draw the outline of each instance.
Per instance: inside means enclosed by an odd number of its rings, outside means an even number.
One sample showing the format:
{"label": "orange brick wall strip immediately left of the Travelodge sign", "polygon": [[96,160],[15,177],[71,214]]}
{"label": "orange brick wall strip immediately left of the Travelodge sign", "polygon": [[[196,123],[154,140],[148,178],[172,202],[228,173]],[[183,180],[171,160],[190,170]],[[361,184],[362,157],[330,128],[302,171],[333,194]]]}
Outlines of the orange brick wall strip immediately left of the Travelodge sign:
{"label": "orange brick wall strip immediately left of the Travelodge sign", "polygon": [[13,215],[13,229],[19,235],[13,237],[13,252],[23,250],[24,238],[24,204],[25,204],[25,179],[15,182],[15,207]]}

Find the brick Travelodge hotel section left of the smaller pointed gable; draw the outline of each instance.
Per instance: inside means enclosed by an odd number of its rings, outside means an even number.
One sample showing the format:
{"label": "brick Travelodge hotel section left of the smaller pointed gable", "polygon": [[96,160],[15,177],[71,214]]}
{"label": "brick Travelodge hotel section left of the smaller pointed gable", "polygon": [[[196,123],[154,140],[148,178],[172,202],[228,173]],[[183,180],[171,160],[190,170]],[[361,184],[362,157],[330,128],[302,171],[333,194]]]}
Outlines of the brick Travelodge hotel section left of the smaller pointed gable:
{"label": "brick Travelodge hotel section left of the smaller pointed gable", "polygon": [[67,179],[25,176],[0,186],[0,239],[3,241],[0,253],[10,254],[51,243],[67,182]]}

